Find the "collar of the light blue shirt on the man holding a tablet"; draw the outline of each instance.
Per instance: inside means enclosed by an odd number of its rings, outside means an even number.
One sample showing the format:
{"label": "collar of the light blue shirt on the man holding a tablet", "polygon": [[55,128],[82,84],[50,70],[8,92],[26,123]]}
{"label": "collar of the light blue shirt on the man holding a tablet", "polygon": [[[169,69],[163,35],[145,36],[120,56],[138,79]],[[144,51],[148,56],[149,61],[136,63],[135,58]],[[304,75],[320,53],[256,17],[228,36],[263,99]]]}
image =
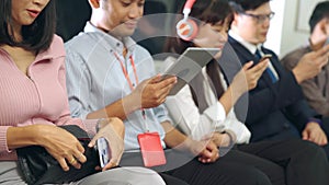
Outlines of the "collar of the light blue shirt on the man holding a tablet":
{"label": "collar of the light blue shirt on the man holding a tablet", "polygon": [[98,38],[102,38],[100,41],[105,41],[105,42],[101,42],[100,44],[102,44],[106,48],[111,48],[112,50],[114,50],[118,54],[123,54],[124,46],[127,47],[128,54],[129,53],[132,54],[136,47],[136,42],[131,36],[124,37],[123,42],[121,42],[117,38],[115,38],[114,36],[112,36],[111,34],[105,33],[104,31],[95,27],[90,22],[86,23],[83,32],[84,33],[97,33],[99,35]]}

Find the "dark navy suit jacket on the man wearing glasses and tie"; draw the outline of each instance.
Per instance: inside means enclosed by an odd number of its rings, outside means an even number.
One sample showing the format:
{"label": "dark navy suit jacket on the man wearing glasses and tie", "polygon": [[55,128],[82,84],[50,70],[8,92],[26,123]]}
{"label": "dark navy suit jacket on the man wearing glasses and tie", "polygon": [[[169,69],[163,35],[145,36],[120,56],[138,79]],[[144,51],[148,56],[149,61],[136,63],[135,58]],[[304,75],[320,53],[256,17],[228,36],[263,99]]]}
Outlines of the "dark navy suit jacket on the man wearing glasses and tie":
{"label": "dark navy suit jacket on the man wearing glasses and tie", "polygon": [[[256,61],[256,57],[240,43],[229,37],[228,43],[231,50],[241,65],[247,61]],[[234,51],[225,51],[219,60],[220,66],[230,62]],[[243,109],[246,114],[246,125],[251,131],[251,141],[264,139],[286,139],[290,137],[299,137],[309,117],[314,114],[304,100],[300,86],[297,84],[292,72],[286,71],[280,63],[277,56],[266,48],[262,48],[264,54],[272,54],[271,62],[275,68],[280,80],[272,83],[270,76],[264,72],[256,89],[238,101],[236,113],[240,119],[243,119]],[[230,56],[228,56],[230,55]],[[230,58],[230,59],[229,59]],[[225,66],[224,68],[228,68]],[[232,71],[231,69],[224,69]],[[238,71],[238,70],[235,70]],[[227,77],[228,81],[232,79]],[[247,101],[246,101],[247,100]],[[245,105],[245,106],[243,106]],[[245,108],[243,108],[245,107]],[[246,111],[247,109],[247,111]]]}

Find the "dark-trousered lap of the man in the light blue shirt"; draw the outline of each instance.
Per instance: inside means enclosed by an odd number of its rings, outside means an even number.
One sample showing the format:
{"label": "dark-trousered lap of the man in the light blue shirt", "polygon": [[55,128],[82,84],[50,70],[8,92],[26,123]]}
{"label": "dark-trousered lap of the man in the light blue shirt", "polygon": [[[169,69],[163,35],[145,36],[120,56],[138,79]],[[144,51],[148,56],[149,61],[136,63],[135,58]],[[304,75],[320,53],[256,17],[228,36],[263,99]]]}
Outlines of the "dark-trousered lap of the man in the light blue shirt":
{"label": "dark-trousered lap of the man in the light blue shirt", "polygon": [[[203,164],[182,152],[166,151],[167,164],[154,170],[164,172],[189,184],[268,184],[270,180],[284,181],[284,172],[277,164],[240,151],[230,151],[218,161]],[[139,152],[124,153],[121,165],[143,166]],[[260,167],[259,167],[260,166]],[[264,170],[264,172],[262,171]],[[243,180],[241,182],[241,180]]]}

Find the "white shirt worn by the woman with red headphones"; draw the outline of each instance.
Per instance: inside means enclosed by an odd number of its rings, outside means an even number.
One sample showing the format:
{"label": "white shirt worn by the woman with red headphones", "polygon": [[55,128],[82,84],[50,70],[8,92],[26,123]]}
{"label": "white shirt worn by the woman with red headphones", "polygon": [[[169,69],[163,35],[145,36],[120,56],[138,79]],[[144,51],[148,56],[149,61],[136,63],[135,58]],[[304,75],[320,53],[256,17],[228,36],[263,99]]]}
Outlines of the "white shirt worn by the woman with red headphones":
{"label": "white shirt worn by the woman with red headphones", "polygon": [[[168,58],[164,61],[164,66],[169,66],[174,62],[174,59]],[[191,136],[193,139],[200,140],[203,137],[212,134],[213,131],[230,130],[236,134],[237,143],[248,143],[251,137],[248,128],[239,122],[230,109],[226,115],[223,105],[212,91],[206,68],[202,69],[205,80],[203,81],[205,99],[208,106],[203,113],[198,112],[195,105],[190,86],[186,84],[177,95],[168,96],[166,106],[169,111],[173,123],[178,124],[178,127]],[[227,89],[223,74],[220,74],[222,84],[224,89]]]}

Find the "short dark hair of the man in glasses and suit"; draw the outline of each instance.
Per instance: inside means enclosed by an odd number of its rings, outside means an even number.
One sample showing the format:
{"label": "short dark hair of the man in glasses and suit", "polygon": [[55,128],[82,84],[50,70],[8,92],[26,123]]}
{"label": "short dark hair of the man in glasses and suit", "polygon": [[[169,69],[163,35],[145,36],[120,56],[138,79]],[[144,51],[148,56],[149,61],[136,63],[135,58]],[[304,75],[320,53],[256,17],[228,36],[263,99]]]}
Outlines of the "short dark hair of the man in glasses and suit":
{"label": "short dark hair of the man in glasses and suit", "polygon": [[229,0],[229,3],[235,11],[245,12],[248,10],[256,10],[269,1],[270,0]]}

